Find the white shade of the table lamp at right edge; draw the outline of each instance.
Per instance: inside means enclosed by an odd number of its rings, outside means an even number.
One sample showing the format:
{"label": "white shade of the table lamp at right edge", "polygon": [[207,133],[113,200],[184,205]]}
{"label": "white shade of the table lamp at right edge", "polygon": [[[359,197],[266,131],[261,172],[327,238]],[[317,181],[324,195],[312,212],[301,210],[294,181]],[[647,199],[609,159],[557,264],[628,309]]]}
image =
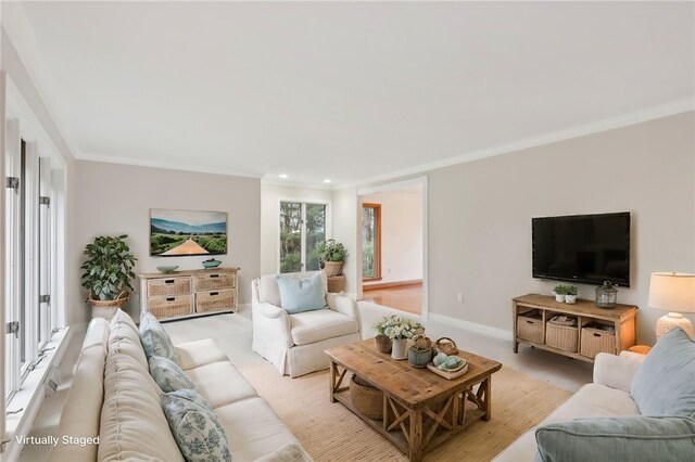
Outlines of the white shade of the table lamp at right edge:
{"label": "white shade of the table lamp at right edge", "polygon": [[653,272],[649,306],[674,312],[695,312],[695,274]]}

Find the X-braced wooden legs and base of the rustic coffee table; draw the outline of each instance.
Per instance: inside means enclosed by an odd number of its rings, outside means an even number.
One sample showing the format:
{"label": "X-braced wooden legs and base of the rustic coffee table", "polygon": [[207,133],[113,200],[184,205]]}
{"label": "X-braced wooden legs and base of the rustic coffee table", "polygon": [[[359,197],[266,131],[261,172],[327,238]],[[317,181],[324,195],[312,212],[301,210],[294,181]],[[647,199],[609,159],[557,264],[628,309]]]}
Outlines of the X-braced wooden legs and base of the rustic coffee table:
{"label": "X-braced wooden legs and base of the rustic coffee table", "polygon": [[[481,382],[455,389],[442,400],[412,409],[383,394],[383,420],[362,415],[350,399],[350,386],[342,382],[349,370],[330,361],[330,401],[339,401],[389,438],[410,461],[420,461],[429,447],[437,447],[479,419],[491,418],[492,374]],[[351,371],[352,372],[352,371]],[[478,389],[473,389],[475,387]],[[466,406],[471,402],[475,406]]]}

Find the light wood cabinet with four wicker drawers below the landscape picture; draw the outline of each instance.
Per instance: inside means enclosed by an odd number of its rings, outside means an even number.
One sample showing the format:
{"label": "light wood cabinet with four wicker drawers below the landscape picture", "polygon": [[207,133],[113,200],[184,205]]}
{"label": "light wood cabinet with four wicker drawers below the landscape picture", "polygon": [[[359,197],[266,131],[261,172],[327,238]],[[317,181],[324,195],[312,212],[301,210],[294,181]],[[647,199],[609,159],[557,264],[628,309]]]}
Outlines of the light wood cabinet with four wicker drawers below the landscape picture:
{"label": "light wood cabinet with four wicker drawers below the landscape picture", "polygon": [[233,312],[238,271],[239,268],[214,268],[138,274],[140,309],[160,320]]}

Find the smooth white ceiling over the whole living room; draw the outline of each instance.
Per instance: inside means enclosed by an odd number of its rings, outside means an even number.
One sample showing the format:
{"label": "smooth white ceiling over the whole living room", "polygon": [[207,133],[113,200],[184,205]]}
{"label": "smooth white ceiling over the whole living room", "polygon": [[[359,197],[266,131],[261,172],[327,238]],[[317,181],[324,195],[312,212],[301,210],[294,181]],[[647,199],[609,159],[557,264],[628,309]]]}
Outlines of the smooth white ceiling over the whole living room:
{"label": "smooth white ceiling over the whole living room", "polygon": [[341,185],[695,97],[693,2],[24,10],[77,158]]}

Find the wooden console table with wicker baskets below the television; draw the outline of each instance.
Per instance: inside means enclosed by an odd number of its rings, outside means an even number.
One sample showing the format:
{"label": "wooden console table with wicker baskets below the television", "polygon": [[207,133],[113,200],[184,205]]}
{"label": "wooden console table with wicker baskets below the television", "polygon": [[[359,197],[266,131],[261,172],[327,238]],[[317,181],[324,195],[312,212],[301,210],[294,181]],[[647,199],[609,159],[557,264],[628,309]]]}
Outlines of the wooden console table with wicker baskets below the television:
{"label": "wooden console table with wicker baskets below the television", "polygon": [[[594,362],[598,352],[618,355],[636,343],[634,305],[606,309],[598,308],[594,300],[578,298],[576,304],[565,304],[552,296],[529,294],[513,298],[511,306],[514,352],[523,344]],[[577,318],[577,326],[548,324],[556,315]]]}

